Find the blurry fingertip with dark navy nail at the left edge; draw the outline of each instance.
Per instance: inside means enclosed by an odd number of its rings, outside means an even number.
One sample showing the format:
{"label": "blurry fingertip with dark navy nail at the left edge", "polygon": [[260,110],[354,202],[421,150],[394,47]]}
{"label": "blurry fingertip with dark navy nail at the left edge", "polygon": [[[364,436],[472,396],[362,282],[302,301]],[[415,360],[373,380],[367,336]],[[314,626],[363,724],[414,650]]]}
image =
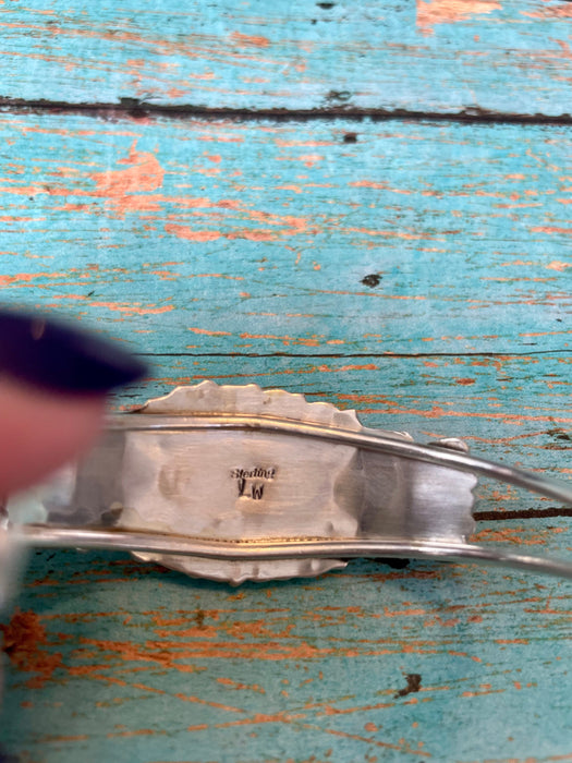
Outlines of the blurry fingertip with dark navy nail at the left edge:
{"label": "blurry fingertip with dark navy nail at the left edge", "polygon": [[110,389],[144,365],[94,335],[0,311],[0,495],[49,474],[97,436]]}

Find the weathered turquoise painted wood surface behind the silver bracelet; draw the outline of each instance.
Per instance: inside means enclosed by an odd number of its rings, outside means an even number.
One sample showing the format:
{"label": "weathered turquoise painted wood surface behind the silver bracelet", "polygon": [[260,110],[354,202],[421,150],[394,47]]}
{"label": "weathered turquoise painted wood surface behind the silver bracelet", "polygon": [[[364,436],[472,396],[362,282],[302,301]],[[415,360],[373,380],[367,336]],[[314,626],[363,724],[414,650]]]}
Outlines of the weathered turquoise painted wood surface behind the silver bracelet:
{"label": "weathered turquoise painted wood surface behind the silver bracelet", "polygon": [[[0,5],[0,300],[144,354],[117,409],[257,383],[572,479],[570,3],[187,5]],[[476,497],[476,542],[572,554],[551,501]],[[571,611],[471,565],[231,589],[38,552],[0,761],[572,761]]]}

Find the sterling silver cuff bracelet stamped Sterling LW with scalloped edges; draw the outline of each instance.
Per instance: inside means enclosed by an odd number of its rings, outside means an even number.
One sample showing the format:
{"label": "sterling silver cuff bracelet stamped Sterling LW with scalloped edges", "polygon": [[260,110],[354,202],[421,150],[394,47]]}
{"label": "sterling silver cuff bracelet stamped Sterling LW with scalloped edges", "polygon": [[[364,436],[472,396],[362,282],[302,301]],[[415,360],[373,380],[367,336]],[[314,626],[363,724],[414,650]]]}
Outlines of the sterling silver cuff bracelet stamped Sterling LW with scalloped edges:
{"label": "sterling silver cuff bracelet stamped Sterling LW with scalloped edges", "polygon": [[473,559],[553,574],[568,562],[467,543],[477,476],[572,504],[572,487],[363,427],[283,390],[179,388],[115,416],[94,451],[8,504],[33,545],[123,548],[190,576],[306,577],[355,556]]}

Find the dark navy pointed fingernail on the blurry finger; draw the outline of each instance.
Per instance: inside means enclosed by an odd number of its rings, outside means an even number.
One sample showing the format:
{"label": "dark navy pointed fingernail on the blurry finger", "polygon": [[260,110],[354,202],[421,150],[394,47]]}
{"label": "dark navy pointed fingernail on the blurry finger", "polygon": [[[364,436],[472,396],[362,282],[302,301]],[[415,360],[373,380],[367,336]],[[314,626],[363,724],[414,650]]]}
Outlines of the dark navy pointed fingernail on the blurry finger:
{"label": "dark navy pointed fingernail on the blurry finger", "polygon": [[0,374],[64,393],[106,392],[144,375],[112,342],[44,315],[0,310]]}

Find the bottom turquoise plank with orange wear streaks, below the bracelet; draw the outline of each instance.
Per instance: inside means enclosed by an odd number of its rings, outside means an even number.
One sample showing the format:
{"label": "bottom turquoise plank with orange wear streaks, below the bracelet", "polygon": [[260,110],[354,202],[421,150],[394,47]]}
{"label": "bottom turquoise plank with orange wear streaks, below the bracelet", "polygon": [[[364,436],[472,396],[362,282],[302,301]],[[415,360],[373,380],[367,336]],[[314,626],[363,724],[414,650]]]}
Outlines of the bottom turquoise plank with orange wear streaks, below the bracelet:
{"label": "bottom turquoise plank with orange wear streaks, below the bracelet", "polygon": [[565,582],[356,561],[316,581],[232,590],[119,555],[44,552],[20,606],[4,629],[20,639],[7,758],[572,755]]}

